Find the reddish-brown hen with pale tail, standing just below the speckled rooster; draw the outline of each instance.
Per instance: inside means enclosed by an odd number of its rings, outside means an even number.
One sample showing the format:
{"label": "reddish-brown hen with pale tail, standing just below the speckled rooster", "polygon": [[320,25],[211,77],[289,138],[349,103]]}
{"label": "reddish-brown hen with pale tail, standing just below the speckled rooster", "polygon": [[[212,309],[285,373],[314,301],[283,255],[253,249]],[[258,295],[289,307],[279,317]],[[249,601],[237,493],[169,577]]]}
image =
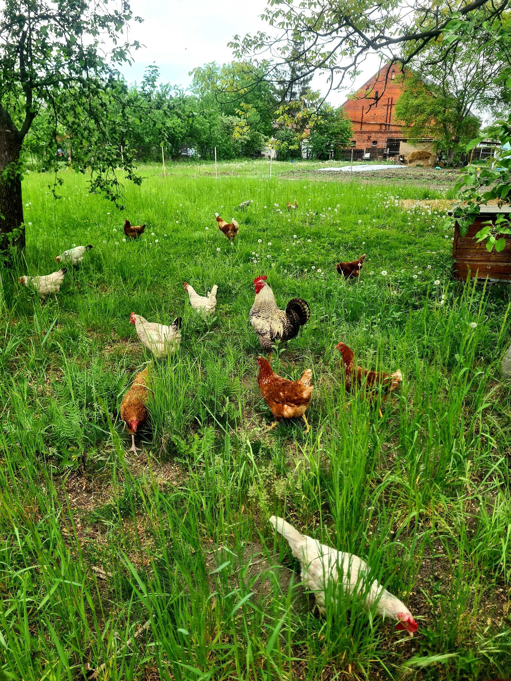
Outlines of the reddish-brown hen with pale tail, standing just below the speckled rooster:
{"label": "reddish-brown hen with pale tail, standing just below the speckled rooster", "polygon": [[[305,432],[309,432],[310,426],[305,417],[305,411],[309,407],[313,386],[311,385],[312,371],[306,369],[298,381],[284,379],[271,368],[270,362],[264,357],[258,358],[259,390],[270,407],[275,419],[298,419],[303,418]],[[271,424],[275,428],[277,421]]]}

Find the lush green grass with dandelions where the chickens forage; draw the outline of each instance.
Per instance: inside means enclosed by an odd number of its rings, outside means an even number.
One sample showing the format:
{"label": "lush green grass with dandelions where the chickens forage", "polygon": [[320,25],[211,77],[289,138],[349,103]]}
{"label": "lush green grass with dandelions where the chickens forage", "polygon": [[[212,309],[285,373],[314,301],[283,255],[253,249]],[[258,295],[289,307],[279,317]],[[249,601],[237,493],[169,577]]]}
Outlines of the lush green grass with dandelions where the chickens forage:
{"label": "lush green grass with dandelions where the chickens forage", "polygon": [[[20,273],[55,270],[73,244],[94,249],[46,303],[3,273],[4,671],[34,681],[84,678],[87,665],[119,681],[510,676],[508,287],[452,280],[442,215],[398,204],[439,196],[429,189],[215,181],[185,176],[189,167],[167,178],[142,168],[123,213],[88,195],[83,176],[63,174],[58,201],[50,176],[24,181]],[[234,246],[215,211],[236,215]],[[125,217],[146,223],[142,238],[123,242]],[[360,282],[340,279],[336,262],[362,252]],[[265,428],[248,321],[262,273],[280,306],[311,304],[307,326],[274,355],[282,375],[313,368],[308,434],[301,421]],[[202,293],[218,285],[213,319],[191,310],[183,281]],[[119,406],[150,357],[131,311],[183,317],[181,350],[153,362],[137,457],[125,452]],[[345,394],[341,339],[366,366],[401,368],[382,420]],[[311,612],[272,513],[364,558],[418,635],[342,599],[326,618]]]}

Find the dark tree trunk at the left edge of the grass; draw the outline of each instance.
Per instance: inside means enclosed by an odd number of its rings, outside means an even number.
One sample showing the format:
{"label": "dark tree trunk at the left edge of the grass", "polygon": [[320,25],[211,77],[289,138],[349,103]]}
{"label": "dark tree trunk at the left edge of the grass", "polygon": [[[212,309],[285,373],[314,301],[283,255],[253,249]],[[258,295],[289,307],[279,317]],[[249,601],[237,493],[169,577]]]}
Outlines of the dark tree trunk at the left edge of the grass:
{"label": "dark tree trunk at the left edge of the grass", "polygon": [[10,243],[17,249],[25,248],[25,225],[20,226],[23,224],[21,175],[18,168],[20,150],[18,131],[0,120],[0,251],[8,249]]}

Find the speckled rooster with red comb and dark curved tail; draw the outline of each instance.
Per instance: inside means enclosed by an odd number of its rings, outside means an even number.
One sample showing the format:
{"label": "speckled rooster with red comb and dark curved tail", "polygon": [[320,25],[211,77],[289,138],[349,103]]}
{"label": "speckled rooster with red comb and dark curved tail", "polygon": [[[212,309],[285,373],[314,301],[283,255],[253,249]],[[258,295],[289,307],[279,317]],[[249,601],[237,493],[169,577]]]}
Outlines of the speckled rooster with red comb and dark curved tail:
{"label": "speckled rooster with red comb and dark curved tail", "polygon": [[306,324],[311,316],[309,303],[301,298],[292,298],[283,311],[277,307],[273,291],[266,283],[266,275],[256,277],[253,285],[255,300],[249,319],[262,349],[271,350],[277,339],[290,340],[298,336],[300,326]]}

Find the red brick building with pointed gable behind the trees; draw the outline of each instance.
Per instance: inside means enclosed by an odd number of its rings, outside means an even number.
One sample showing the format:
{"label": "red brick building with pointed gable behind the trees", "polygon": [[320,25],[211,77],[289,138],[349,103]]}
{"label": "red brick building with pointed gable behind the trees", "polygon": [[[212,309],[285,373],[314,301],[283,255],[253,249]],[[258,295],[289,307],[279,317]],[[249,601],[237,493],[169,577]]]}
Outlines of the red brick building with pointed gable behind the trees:
{"label": "red brick building with pointed gable behind the trees", "polygon": [[392,65],[385,86],[388,65],[380,69],[356,93],[354,99],[343,104],[351,119],[353,141],[357,149],[388,149],[389,155],[399,153],[399,142],[406,140],[406,128],[396,121],[395,106],[403,93],[403,74]]}

